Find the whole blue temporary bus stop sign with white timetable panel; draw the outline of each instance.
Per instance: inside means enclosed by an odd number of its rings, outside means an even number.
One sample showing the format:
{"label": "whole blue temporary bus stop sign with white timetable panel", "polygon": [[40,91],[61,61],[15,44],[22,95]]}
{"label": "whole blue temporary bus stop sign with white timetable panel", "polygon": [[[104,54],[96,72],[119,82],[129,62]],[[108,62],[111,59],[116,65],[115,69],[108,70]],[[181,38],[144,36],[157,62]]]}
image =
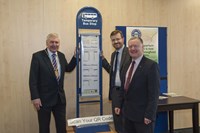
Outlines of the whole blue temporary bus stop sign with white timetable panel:
{"label": "whole blue temporary bus stop sign with white timetable panel", "polygon": [[95,102],[100,103],[102,115],[102,18],[93,7],[84,7],[77,13],[76,49],[76,117],[80,116],[80,104]]}

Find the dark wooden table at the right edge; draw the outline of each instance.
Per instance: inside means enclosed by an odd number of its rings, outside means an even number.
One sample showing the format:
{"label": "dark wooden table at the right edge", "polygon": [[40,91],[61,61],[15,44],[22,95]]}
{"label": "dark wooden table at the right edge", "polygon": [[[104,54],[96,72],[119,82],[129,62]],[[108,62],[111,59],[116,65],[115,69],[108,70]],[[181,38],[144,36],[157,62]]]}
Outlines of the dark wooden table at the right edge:
{"label": "dark wooden table at the right edge", "polygon": [[174,110],[192,109],[193,133],[199,133],[199,100],[185,96],[168,97],[159,100],[157,112],[167,111],[169,114],[169,131],[174,131]]}

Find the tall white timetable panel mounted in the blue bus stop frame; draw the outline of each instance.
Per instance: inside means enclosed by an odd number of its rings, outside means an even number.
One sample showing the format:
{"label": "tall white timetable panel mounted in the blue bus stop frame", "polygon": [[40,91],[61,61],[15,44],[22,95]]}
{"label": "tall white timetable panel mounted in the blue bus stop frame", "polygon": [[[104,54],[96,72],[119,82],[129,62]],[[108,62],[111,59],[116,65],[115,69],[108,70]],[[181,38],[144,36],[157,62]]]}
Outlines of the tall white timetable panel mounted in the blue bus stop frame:
{"label": "tall white timetable panel mounted in the blue bus stop frame", "polygon": [[99,35],[81,35],[81,95],[99,95]]}

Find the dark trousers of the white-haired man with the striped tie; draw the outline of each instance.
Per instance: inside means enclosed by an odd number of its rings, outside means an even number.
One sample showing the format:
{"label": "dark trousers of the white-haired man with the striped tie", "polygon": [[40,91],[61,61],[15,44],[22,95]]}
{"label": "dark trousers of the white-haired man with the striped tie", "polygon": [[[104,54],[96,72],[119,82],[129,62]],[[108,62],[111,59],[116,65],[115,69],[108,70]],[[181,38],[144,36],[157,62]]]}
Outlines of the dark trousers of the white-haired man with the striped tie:
{"label": "dark trousers of the white-haired man with the striped tie", "polygon": [[56,132],[66,133],[66,104],[58,102],[55,106],[42,106],[38,111],[39,133],[50,133],[51,112],[55,118]]}

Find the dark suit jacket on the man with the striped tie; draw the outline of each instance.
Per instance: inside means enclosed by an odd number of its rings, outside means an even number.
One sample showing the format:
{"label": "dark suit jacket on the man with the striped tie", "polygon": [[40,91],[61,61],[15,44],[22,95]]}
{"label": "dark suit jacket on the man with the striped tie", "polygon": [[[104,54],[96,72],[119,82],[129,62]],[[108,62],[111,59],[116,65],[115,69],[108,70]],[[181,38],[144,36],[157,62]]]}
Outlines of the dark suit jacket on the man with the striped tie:
{"label": "dark suit jacket on the man with the striped tie", "polygon": [[72,71],[76,66],[76,58],[72,58],[70,63],[63,53],[58,52],[61,66],[59,84],[53,70],[51,60],[46,50],[36,52],[32,56],[29,87],[31,100],[40,98],[43,106],[53,106],[57,103],[58,96],[62,103],[66,103],[65,92],[63,89],[65,72]]}

